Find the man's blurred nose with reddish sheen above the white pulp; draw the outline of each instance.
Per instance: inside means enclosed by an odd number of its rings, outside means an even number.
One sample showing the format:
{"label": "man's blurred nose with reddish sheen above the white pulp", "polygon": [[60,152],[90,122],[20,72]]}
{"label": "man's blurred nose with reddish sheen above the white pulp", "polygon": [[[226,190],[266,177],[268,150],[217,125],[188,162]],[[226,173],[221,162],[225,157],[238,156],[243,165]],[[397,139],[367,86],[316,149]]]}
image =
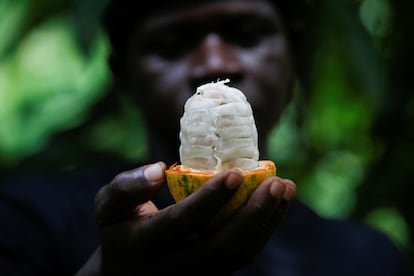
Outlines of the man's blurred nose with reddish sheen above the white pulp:
{"label": "man's blurred nose with reddish sheen above the white pulp", "polygon": [[210,33],[200,42],[192,57],[192,77],[204,82],[218,78],[240,78],[237,49],[218,34]]}

